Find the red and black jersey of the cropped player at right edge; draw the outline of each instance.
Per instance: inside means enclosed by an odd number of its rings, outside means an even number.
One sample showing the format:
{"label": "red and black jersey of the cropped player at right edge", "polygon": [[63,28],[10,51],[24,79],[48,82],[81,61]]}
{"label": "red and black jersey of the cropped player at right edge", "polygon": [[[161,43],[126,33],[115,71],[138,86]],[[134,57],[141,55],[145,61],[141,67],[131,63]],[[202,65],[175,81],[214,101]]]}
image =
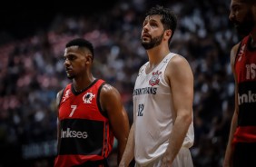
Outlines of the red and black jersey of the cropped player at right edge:
{"label": "red and black jersey of the cropped player at right edge", "polygon": [[242,39],[235,60],[239,114],[233,142],[256,142],[256,48],[250,43],[250,36]]}

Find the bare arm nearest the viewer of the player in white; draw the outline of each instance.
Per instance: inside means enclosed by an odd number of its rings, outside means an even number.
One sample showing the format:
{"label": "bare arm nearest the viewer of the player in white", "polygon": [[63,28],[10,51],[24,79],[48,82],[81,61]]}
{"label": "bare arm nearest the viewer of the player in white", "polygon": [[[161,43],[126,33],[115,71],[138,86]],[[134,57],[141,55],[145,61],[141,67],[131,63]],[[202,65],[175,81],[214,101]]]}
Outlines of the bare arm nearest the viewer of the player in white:
{"label": "bare arm nearest the viewer of the player in white", "polygon": [[165,79],[171,87],[174,120],[162,165],[172,164],[192,123],[193,74],[190,64],[181,55],[175,55],[167,65]]}

